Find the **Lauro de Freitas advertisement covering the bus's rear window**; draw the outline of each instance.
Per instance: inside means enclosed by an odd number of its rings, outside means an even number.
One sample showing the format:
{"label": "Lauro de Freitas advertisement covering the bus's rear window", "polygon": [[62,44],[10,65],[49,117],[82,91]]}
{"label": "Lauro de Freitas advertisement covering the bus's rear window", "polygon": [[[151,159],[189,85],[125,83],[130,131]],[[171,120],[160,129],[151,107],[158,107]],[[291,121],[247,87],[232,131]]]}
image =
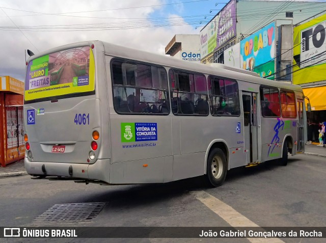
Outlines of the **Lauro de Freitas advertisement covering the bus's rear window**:
{"label": "Lauro de Freitas advertisement covering the bus's rear window", "polygon": [[25,100],[93,91],[94,56],[91,48],[78,47],[29,62]]}

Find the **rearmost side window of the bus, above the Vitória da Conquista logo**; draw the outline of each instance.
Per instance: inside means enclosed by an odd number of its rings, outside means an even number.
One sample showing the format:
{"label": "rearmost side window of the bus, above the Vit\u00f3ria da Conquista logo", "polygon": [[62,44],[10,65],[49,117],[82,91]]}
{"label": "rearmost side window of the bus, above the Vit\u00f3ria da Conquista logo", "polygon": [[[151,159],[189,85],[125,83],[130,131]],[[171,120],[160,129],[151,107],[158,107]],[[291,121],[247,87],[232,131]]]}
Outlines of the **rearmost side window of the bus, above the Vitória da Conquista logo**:
{"label": "rearmost side window of the bus, above the Vit\u00f3ria da Conquista logo", "polygon": [[117,113],[170,113],[168,76],[164,67],[114,59],[111,69],[113,106]]}

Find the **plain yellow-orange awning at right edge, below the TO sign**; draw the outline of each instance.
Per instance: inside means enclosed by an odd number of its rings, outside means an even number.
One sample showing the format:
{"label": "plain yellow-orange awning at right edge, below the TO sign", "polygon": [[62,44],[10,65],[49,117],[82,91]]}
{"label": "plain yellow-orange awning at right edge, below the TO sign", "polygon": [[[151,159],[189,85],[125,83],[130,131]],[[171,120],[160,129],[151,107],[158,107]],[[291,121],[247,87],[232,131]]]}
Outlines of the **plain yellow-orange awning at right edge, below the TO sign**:
{"label": "plain yellow-orange awning at right edge, below the TO sign", "polygon": [[[313,88],[303,89],[304,95],[310,100],[312,111],[322,111],[326,110],[326,86],[319,86]],[[306,100],[306,110],[307,110],[307,100]]]}

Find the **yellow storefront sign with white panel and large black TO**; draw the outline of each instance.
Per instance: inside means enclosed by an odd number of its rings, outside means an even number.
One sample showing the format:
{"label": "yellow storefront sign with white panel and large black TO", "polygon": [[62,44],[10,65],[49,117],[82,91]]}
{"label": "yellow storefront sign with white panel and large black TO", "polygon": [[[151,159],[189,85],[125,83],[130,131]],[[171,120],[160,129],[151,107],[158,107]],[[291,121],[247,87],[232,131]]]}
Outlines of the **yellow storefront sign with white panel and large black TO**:
{"label": "yellow storefront sign with white panel and large black TO", "polygon": [[293,28],[293,84],[326,80],[326,14]]}

